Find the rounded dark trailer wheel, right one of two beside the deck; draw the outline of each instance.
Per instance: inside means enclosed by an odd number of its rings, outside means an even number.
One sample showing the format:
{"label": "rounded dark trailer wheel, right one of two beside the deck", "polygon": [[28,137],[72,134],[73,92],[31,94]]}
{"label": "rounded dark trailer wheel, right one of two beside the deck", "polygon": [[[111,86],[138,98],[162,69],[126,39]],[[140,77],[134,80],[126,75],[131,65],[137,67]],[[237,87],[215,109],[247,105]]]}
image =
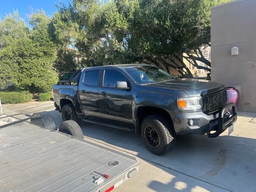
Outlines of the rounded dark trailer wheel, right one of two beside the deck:
{"label": "rounded dark trailer wheel, right one of two beside the deck", "polygon": [[62,124],[60,124],[59,132],[84,140],[84,134],[81,127],[73,120],[63,121]]}

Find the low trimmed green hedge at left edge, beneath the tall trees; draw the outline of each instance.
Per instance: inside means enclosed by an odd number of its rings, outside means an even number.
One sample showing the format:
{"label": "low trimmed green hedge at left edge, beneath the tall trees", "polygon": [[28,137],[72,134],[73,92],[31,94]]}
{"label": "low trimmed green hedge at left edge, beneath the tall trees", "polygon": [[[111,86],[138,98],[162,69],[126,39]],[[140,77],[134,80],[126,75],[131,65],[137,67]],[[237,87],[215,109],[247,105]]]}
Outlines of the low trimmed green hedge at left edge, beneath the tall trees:
{"label": "low trimmed green hedge at left edge, beneath the tall trees", "polygon": [[19,104],[29,102],[32,99],[32,94],[29,91],[0,91],[0,99],[2,104]]}

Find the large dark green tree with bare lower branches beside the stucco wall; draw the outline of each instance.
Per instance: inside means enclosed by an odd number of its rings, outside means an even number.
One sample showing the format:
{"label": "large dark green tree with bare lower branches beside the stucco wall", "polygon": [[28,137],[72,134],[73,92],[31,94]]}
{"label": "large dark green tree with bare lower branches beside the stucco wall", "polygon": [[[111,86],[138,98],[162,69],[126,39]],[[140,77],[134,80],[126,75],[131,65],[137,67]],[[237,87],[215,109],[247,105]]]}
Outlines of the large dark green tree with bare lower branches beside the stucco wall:
{"label": "large dark green tree with bare lower branches beside the stucco wall", "polygon": [[196,68],[210,70],[198,65],[198,62],[210,66],[201,49],[202,46],[210,46],[210,8],[218,4],[218,1],[116,2],[119,4],[119,12],[126,13],[129,22],[129,30],[124,34],[127,48],[138,61],[153,63],[169,73],[170,68],[175,69],[185,77],[192,77],[185,60]]}

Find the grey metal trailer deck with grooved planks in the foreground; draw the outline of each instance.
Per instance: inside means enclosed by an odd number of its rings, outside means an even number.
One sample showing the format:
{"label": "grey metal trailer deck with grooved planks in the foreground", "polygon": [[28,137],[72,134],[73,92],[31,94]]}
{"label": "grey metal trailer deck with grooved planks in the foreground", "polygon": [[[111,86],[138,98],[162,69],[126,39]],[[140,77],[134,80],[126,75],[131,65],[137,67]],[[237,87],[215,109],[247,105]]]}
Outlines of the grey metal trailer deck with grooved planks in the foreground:
{"label": "grey metal trailer deck with grooved planks in the foreground", "polygon": [[134,157],[27,121],[0,129],[0,191],[112,191],[137,171]]}

